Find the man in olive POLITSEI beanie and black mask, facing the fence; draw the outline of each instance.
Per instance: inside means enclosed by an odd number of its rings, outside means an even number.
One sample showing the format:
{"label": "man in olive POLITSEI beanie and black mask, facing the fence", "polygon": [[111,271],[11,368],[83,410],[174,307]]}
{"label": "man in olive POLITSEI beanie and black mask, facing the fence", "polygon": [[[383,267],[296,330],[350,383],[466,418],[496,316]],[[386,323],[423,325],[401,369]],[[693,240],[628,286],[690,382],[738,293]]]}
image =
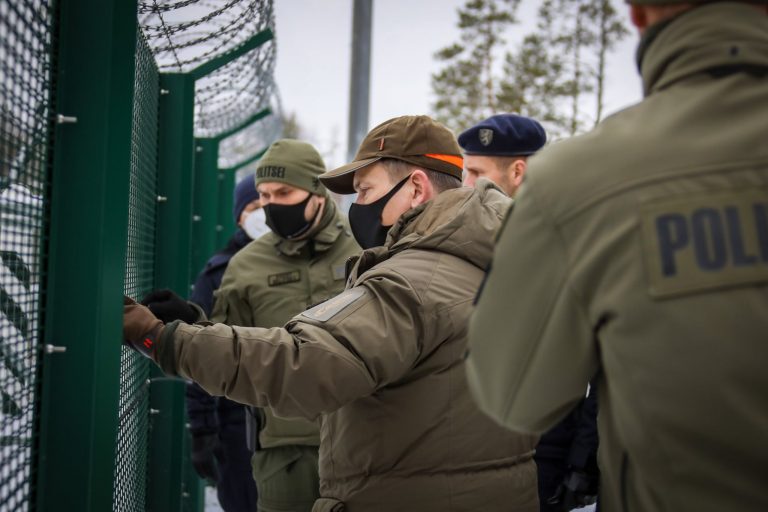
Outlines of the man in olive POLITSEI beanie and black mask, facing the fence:
{"label": "man in olive POLITSEI beanie and black mask, facing the fence", "polygon": [[[213,322],[278,327],[344,289],[347,259],[360,252],[346,218],[318,180],[325,164],[306,142],[275,142],[259,160],[270,232],[230,261],[216,291]],[[318,422],[251,409],[248,440],[259,512],[309,511],[319,496]]]}

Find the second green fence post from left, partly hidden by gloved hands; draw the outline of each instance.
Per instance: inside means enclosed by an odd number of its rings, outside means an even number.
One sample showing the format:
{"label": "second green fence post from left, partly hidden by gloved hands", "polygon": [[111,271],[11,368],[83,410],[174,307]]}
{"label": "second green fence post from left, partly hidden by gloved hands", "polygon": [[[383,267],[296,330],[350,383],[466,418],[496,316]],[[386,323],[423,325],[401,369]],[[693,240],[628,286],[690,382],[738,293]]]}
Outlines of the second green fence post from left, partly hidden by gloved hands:
{"label": "second green fence post from left, partly hidden by gloved hands", "polygon": [[[158,214],[155,285],[189,294],[194,186],[195,82],[182,73],[160,74]],[[184,482],[188,433],[184,383],[152,370],[147,510],[180,511],[190,493]]]}

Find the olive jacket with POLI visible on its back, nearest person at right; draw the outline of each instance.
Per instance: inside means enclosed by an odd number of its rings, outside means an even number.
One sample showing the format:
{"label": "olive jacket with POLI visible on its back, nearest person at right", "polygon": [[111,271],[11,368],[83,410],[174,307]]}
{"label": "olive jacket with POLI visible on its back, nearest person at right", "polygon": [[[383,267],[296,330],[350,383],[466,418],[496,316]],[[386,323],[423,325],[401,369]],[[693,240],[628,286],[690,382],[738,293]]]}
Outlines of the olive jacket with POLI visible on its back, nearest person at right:
{"label": "olive jacket with POLI visible on its back, nearest person at right", "polygon": [[470,385],[542,432],[597,374],[601,509],[768,510],[768,17],[695,8],[641,71],[640,104],[531,159]]}

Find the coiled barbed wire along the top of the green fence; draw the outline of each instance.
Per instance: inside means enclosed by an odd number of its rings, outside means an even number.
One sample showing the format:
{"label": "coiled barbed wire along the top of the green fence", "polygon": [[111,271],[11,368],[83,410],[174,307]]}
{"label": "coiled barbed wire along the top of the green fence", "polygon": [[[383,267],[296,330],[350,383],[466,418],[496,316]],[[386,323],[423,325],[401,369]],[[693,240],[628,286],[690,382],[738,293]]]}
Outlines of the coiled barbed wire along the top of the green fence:
{"label": "coiled barbed wire along the top of the green fence", "polygon": [[[153,0],[139,3],[139,21],[161,71],[188,72],[226,54],[267,28],[272,0]],[[215,137],[269,105],[274,39],[195,83],[195,136]]]}

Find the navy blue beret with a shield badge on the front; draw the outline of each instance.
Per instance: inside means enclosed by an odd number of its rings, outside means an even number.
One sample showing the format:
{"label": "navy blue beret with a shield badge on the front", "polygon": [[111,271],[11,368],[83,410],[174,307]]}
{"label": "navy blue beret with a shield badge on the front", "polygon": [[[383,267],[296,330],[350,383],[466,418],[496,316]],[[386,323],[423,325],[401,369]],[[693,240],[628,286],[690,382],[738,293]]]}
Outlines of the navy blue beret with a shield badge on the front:
{"label": "navy blue beret with a shield badge on the front", "polygon": [[516,114],[498,114],[459,135],[459,146],[467,155],[527,156],[547,142],[547,132],[538,121]]}

